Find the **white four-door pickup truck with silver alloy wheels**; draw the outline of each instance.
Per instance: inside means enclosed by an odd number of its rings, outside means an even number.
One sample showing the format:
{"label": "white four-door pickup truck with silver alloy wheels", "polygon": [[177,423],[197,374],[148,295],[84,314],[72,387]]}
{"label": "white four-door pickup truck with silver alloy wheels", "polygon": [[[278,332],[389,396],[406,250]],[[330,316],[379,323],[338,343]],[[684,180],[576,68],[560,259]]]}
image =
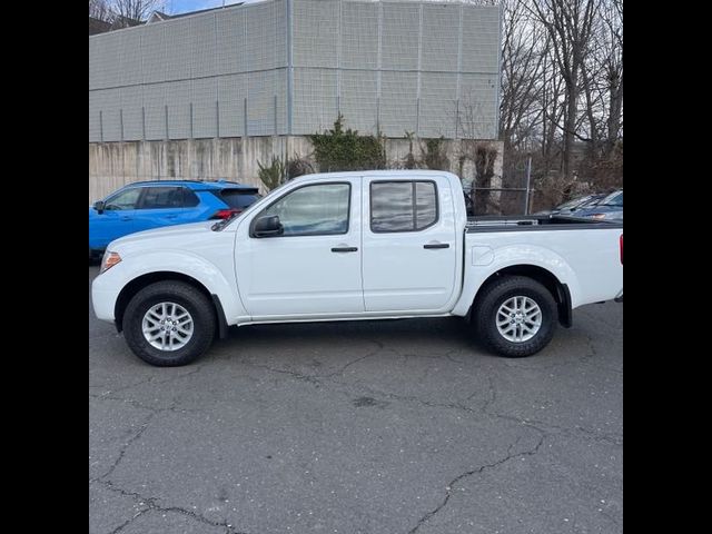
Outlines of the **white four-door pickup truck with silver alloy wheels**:
{"label": "white four-door pickup truck with silver alloy wheels", "polygon": [[623,225],[467,218],[444,171],[296,178],[226,221],[112,241],[99,319],[158,366],[202,355],[229,325],[463,316],[496,353],[545,347],[572,309],[623,299]]}

